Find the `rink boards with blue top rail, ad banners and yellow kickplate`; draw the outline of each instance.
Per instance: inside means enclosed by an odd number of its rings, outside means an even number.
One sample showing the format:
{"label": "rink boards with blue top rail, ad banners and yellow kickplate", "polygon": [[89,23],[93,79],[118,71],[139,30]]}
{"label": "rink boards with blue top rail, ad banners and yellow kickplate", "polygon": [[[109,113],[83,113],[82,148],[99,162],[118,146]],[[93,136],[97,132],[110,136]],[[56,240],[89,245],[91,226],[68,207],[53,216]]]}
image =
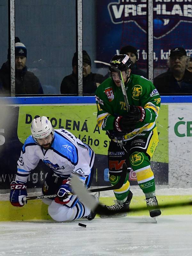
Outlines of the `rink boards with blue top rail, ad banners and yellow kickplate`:
{"label": "rink boards with blue top rail, ad banners and yellow kickplate", "polygon": [[[51,98],[51,99],[50,99]],[[63,99],[64,98],[64,99]],[[55,129],[65,128],[77,137],[89,144],[95,151],[95,175],[93,186],[109,186],[107,148],[109,139],[105,132],[99,131],[96,125],[96,106],[93,97],[35,97],[14,98],[8,102],[9,118],[13,125],[0,127],[0,193],[8,193],[10,182],[16,173],[16,162],[20,155],[20,149],[25,139],[30,135],[30,125],[35,116],[48,116]],[[29,101],[28,101],[29,100]],[[7,101],[7,99],[6,99]],[[0,103],[2,99],[0,100]],[[50,104],[52,102],[52,104]],[[28,103],[28,104],[26,104]],[[32,104],[33,103],[33,104]],[[43,104],[42,104],[43,103]],[[157,119],[159,132],[159,145],[151,159],[156,185],[167,188],[190,188],[192,187],[191,172],[191,134],[192,97],[162,97],[162,105]],[[2,141],[4,142],[2,144]],[[8,151],[7,151],[8,150]],[[6,152],[7,151],[7,152]],[[11,157],[10,157],[11,156]],[[6,168],[5,168],[6,167]],[[28,192],[36,192],[40,189],[48,167],[39,163],[28,181]],[[130,173],[131,186],[137,185],[134,172]],[[157,194],[158,195],[158,194]],[[169,193],[166,193],[169,195]],[[169,200],[190,200],[189,195],[158,196],[159,203]],[[111,197],[101,198],[105,204],[113,204]],[[143,196],[134,196],[132,205],[145,205]],[[162,214],[191,214],[191,207],[170,208]],[[132,212],[131,215],[148,215],[148,211]],[[30,201],[21,208],[11,206],[9,201],[1,201],[0,220],[46,220],[50,219],[47,213],[47,205],[40,200]]]}

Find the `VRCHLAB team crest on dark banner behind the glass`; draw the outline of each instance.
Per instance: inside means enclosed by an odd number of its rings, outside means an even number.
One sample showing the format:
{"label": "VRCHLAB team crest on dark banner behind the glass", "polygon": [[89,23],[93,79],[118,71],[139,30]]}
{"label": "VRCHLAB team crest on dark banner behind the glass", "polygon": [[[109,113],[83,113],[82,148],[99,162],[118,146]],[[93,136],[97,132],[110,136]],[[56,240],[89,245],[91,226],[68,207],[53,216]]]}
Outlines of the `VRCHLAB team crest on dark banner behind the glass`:
{"label": "VRCHLAB team crest on dark banner behind the glass", "polygon": [[[119,0],[108,4],[111,21],[115,24],[135,22],[144,32],[147,31],[147,0]],[[192,22],[191,0],[154,0],[153,1],[154,38],[169,34],[180,22]]]}

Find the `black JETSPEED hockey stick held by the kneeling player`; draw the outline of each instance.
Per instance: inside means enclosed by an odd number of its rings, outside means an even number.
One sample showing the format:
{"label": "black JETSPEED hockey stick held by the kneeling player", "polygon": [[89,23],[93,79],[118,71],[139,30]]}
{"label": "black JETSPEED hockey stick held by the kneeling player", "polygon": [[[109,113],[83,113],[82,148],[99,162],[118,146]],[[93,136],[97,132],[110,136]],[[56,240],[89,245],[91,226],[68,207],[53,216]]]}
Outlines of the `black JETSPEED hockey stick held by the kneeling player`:
{"label": "black JETSPEED hockey stick held by the kneeling player", "polygon": [[[119,182],[114,185],[114,186],[109,186],[109,187],[104,187],[104,188],[93,188],[89,189],[89,192],[101,192],[101,191],[108,191],[108,190],[114,190],[114,189],[119,189],[123,186],[124,181],[127,177],[127,165],[124,163],[123,164],[123,170],[122,170],[122,175],[119,179]],[[81,181],[80,181],[81,182]],[[36,200],[36,199],[46,199],[46,198],[55,198],[57,195],[47,195],[47,196],[30,196],[26,197],[25,200]],[[25,201],[24,200],[24,201]]]}

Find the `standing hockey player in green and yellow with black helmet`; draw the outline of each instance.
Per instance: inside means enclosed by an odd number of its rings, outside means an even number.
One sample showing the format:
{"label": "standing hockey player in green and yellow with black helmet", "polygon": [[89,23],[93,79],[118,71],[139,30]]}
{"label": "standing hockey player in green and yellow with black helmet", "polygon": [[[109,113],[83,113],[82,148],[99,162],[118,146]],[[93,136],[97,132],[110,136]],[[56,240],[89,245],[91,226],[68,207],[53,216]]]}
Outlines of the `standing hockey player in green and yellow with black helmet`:
{"label": "standing hockey player in green and yellow with black helmet", "polygon": [[[150,216],[161,214],[155,194],[154,174],[150,159],[159,142],[156,118],[161,98],[148,79],[131,74],[132,61],[128,55],[114,55],[110,64],[122,72],[126,94],[130,105],[127,112],[118,73],[109,68],[111,77],[96,90],[97,123],[107,131],[111,139],[108,148],[109,180],[115,185],[122,173],[124,162],[133,169],[137,181],[145,194]],[[129,209],[132,199],[129,175],[124,185],[114,190],[116,204],[107,206],[111,210]]]}

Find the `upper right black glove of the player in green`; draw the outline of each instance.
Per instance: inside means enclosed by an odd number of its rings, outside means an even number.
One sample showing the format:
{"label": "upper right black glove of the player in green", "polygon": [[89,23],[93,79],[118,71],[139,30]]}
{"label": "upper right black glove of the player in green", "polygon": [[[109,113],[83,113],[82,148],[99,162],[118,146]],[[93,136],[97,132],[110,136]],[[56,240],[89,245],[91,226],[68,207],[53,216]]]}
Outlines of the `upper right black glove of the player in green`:
{"label": "upper right black glove of the player in green", "polygon": [[143,122],[146,116],[145,108],[140,106],[129,106],[130,111],[126,114],[130,121]]}

